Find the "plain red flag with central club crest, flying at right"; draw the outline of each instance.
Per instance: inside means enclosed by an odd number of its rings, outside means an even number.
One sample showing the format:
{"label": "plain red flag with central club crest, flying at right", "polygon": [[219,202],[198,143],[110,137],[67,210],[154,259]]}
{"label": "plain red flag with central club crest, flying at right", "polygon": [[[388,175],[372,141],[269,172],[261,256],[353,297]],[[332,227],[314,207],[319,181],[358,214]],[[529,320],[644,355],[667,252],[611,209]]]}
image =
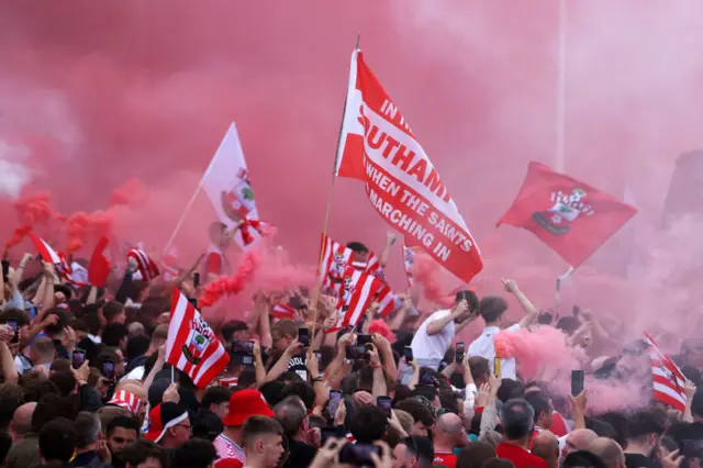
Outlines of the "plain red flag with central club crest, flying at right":
{"label": "plain red flag with central club crest, flying at right", "polygon": [[517,198],[498,225],[532,232],[576,268],[635,213],[615,197],[532,161]]}

